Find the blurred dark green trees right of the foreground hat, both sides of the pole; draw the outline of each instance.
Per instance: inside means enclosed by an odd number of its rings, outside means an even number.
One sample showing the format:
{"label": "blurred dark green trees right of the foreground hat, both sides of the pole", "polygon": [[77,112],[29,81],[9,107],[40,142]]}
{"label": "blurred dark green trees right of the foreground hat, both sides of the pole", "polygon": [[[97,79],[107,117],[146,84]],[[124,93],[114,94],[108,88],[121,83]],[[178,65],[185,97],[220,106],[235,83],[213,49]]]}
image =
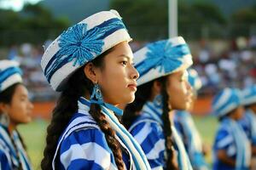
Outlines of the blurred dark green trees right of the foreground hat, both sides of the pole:
{"label": "blurred dark green trees right of the foreground hat, both sides of the pole", "polygon": [[[124,18],[133,37],[139,40],[167,37],[167,0],[112,0],[110,4]],[[253,23],[256,23],[255,7],[241,9],[230,18],[209,1],[178,1],[178,32],[186,39],[248,36]]]}

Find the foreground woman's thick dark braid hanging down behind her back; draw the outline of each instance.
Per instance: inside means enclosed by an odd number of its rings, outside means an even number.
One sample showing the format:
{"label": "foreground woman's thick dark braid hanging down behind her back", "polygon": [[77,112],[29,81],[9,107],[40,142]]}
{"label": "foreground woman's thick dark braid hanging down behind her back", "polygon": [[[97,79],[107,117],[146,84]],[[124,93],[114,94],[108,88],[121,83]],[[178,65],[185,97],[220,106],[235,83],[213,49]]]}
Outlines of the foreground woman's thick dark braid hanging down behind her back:
{"label": "foreground woman's thick dark braid hanging down behind her back", "polygon": [[[78,110],[77,101],[79,97],[85,94],[88,79],[84,78],[83,67],[76,71],[73,77],[68,81],[68,87],[65,89],[57,101],[53,116],[47,127],[46,146],[44,149],[44,158],[41,167],[44,170],[52,169],[52,160],[55,155],[58,140],[67,127],[73,113]],[[82,76],[80,76],[82,75]]]}

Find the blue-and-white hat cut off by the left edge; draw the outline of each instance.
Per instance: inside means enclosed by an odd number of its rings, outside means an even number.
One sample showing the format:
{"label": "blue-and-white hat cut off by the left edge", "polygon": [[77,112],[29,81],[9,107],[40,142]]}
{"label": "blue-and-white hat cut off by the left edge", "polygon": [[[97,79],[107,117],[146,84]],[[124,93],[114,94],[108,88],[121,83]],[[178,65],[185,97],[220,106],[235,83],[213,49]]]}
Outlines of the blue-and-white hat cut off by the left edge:
{"label": "blue-and-white hat cut off by the left edge", "polygon": [[22,71],[14,60],[0,60],[0,93],[17,82],[22,82]]}

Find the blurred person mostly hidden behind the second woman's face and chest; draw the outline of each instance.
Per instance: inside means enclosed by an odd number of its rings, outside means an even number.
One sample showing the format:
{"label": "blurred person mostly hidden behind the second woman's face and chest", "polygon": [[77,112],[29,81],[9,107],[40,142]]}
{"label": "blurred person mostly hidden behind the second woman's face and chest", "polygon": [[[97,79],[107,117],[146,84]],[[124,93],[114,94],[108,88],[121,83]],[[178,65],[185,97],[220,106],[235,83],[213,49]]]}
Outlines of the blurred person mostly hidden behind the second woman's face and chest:
{"label": "blurred person mostly hidden behind the second woman's face and chest", "polygon": [[195,127],[195,122],[189,111],[193,110],[195,100],[197,98],[197,91],[201,88],[201,80],[197,72],[194,69],[189,69],[189,84],[193,88],[192,104],[188,111],[176,111],[174,115],[174,125],[177,128],[178,133],[183,139],[183,143],[192,167],[196,170],[208,169],[207,162],[203,154],[203,144],[201,142],[201,136]]}

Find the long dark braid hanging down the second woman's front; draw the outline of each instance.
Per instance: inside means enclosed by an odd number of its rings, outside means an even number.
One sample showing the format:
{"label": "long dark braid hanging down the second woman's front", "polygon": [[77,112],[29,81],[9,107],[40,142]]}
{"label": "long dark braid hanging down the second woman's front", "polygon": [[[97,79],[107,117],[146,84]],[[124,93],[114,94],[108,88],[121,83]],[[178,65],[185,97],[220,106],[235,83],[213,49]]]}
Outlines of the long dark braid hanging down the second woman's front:
{"label": "long dark braid hanging down the second woman's front", "polygon": [[166,169],[178,169],[177,162],[175,161],[176,157],[174,156],[173,142],[172,142],[172,122],[170,121],[169,112],[171,111],[168,106],[169,95],[166,92],[166,77],[162,78],[162,103],[163,103],[163,114],[162,120],[164,122],[164,134],[166,137],[166,151],[167,151],[167,161]]}

